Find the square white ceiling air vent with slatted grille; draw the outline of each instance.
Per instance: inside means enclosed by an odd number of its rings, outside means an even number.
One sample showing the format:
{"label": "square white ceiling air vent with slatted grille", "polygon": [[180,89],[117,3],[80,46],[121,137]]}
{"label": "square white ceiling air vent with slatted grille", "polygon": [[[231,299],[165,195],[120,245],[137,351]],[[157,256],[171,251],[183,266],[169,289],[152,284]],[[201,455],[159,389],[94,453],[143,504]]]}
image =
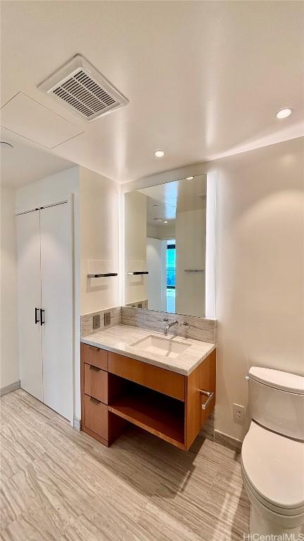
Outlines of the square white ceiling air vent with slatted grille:
{"label": "square white ceiling air vent with slatted grille", "polygon": [[129,101],[82,55],[77,54],[39,86],[91,122]]}

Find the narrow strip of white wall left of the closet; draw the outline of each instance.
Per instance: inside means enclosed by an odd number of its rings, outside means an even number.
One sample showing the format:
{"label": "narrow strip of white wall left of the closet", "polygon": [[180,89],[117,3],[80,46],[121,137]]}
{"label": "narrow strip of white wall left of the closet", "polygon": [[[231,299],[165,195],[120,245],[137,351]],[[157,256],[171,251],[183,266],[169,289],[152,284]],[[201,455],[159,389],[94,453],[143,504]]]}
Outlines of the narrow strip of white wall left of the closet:
{"label": "narrow strip of white wall left of the closet", "polygon": [[0,388],[19,380],[15,190],[1,186]]}

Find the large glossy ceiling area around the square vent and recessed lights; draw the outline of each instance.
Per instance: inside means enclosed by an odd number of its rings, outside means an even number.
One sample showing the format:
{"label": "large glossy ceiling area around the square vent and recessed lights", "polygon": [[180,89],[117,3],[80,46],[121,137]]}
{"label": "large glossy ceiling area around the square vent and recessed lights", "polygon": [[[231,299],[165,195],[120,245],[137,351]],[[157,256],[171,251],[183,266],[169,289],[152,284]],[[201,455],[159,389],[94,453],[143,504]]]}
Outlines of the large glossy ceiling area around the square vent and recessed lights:
{"label": "large glossy ceiling area around the square vent and recessed lights", "polygon": [[[1,106],[23,92],[69,120],[84,133],[51,153],[118,182],[299,137],[303,10],[298,1],[4,1]],[[77,53],[129,105],[85,123],[37,89]],[[284,106],[293,115],[277,120]]]}

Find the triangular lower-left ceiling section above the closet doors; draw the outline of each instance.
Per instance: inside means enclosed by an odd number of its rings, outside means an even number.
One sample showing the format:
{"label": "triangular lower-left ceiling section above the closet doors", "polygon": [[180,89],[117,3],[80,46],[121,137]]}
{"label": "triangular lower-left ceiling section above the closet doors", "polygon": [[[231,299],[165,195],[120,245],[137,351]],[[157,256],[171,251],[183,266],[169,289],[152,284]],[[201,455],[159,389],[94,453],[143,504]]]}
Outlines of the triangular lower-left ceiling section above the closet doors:
{"label": "triangular lower-left ceiling section above the closet doors", "polygon": [[20,188],[25,184],[75,166],[75,163],[55,156],[4,128],[0,130],[0,140],[13,144],[13,149],[0,145],[1,185]]}

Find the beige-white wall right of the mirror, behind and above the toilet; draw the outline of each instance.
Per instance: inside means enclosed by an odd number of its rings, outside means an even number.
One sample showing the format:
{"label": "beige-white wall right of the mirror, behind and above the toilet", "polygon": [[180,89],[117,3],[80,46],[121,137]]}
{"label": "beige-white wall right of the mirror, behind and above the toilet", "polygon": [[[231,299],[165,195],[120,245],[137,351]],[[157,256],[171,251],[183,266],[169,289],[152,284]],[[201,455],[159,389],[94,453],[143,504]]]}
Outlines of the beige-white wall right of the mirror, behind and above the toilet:
{"label": "beige-white wall right of the mirror, behind and above the toilet", "polygon": [[206,164],[217,170],[217,430],[243,437],[250,366],[304,374],[304,138]]}

